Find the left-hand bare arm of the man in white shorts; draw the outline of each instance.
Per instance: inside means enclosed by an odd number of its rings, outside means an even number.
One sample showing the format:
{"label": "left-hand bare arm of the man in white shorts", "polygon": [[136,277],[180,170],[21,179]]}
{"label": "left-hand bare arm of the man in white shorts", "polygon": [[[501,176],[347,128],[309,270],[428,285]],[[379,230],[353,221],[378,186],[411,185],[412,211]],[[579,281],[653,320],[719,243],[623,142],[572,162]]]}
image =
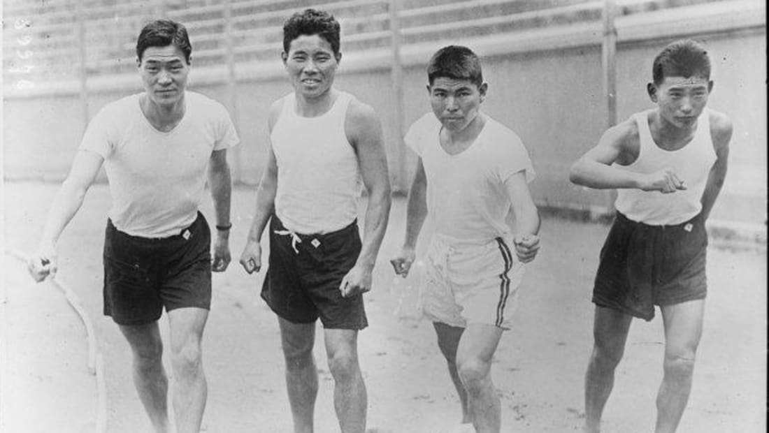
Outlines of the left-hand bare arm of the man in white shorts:
{"label": "left-hand bare arm of the man in white shorts", "polygon": [[390,260],[395,273],[404,278],[408,276],[411,265],[414,263],[414,259],[416,259],[415,251],[419,232],[424,224],[424,219],[428,216],[427,186],[428,180],[424,174],[424,164],[422,164],[422,158],[420,157],[417,160],[414,180],[411,181],[411,190],[408,191],[406,237],[401,251]]}

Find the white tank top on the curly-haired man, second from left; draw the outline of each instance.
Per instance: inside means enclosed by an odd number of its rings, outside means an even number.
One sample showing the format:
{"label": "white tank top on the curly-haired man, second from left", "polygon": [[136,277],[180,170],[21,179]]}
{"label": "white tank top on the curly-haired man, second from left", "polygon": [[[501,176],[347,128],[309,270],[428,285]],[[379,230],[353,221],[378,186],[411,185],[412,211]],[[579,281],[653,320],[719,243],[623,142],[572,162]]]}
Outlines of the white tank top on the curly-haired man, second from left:
{"label": "white tank top on the curly-haired man, second from left", "polygon": [[330,233],[358,216],[358,158],[345,134],[352,99],[340,91],[325,114],[301,117],[295,111],[295,94],[283,98],[270,138],[278,163],[275,213],[288,230]]}

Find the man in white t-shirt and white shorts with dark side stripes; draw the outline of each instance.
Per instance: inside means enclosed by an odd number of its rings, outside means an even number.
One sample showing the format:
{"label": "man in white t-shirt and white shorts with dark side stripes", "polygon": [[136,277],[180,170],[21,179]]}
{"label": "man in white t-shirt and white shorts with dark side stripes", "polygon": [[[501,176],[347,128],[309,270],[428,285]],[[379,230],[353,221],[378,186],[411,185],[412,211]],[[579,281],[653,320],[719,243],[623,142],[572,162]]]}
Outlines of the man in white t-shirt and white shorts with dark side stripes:
{"label": "man in white t-shirt and white shorts with dark side stripes", "polygon": [[[414,122],[404,139],[419,158],[404,246],[391,263],[395,273],[408,275],[429,214],[434,233],[421,309],[434,324],[460,397],[458,431],[471,431],[471,424],[478,432],[498,432],[491,361],[511,326],[523,263],[539,249],[539,215],[528,190],[534,170],[521,139],[481,112],[488,84],[473,51],[438,50],[428,63],[427,88],[433,112]],[[505,222],[511,210],[513,232]]]}

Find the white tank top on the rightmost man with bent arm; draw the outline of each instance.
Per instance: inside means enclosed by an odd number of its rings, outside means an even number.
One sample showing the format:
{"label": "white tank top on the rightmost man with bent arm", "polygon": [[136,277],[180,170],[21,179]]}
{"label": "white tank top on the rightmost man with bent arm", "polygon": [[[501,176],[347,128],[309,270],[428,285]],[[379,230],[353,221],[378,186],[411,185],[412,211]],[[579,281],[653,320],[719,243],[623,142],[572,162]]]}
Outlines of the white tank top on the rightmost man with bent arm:
{"label": "white tank top on the rightmost man with bent arm", "polygon": [[707,183],[707,176],[716,161],[711,138],[711,117],[706,109],[697,118],[697,131],[686,146],[678,150],[663,150],[651,137],[649,113],[651,110],[634,114],[638,124],[641,145],[638,158],[633,164],[622,166],[621,170],[649,174],[670,168],[684,181],[686,190],[674,193],[642,191],[637,189],[617,190],[617,210],[630,220],[651,226],[673,225],[691,220],[702,210],[701,198]]}

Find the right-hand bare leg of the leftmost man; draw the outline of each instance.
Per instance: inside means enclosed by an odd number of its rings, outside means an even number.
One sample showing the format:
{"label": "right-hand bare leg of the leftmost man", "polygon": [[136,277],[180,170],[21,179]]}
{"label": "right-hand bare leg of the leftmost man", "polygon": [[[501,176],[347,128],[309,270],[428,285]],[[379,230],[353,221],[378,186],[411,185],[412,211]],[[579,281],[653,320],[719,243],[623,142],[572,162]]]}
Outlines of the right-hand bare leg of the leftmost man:
{"label": "right-hand bare leg of the leftmost man", "polygon": [[208,383],[203,372],[201,340],[207,319],[207,309],[180,308],[168,312],[177,433],[198,433],[203,421]]}

